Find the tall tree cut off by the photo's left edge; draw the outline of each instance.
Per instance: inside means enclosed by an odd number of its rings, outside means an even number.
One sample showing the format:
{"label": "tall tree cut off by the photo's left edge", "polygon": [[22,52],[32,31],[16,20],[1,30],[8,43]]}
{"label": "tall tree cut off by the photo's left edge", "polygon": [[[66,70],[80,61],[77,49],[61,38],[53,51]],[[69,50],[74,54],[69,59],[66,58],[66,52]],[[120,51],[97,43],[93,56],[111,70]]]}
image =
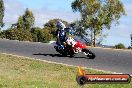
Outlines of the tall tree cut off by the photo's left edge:
{"label": "tall tree cut off by the photo's left edge", "polygon": [[3,0],[0,0],[0,27],[4,26],[4,23],[3,23],[4,10],[5,10],[4,2]]}

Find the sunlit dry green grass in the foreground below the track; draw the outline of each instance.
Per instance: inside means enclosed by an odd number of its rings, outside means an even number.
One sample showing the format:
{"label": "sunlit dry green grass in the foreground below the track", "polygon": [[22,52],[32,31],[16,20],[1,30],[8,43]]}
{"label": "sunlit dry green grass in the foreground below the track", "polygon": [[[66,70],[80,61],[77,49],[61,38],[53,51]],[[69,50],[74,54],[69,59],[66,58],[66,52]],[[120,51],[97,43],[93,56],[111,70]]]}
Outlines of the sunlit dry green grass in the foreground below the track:
{"label": "sunlit dry green grass in the foreground below the track", "polygon": [[[87,69],[87,73],[103,72]],[[0,54],[0,88],[80,88],[76,74],[75,67]],[[132,82],[87,84],[83,88],[132,88]]]}

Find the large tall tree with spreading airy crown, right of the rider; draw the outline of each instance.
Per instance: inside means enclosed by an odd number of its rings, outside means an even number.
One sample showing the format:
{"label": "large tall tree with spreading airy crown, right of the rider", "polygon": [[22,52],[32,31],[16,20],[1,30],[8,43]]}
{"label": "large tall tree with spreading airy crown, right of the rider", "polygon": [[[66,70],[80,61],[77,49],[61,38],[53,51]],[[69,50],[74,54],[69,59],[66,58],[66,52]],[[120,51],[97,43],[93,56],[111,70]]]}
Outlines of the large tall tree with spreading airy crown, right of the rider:
{"label": "large tall tree with spreading airy crown, right of the rider", "polygon": [[71,7],[81,13],[81,23],[91,31],[91,42],[96,44],[96,37],[103,29],[110,29],[113,22],[118,23],[125,10],[120,0],[75,0]]}

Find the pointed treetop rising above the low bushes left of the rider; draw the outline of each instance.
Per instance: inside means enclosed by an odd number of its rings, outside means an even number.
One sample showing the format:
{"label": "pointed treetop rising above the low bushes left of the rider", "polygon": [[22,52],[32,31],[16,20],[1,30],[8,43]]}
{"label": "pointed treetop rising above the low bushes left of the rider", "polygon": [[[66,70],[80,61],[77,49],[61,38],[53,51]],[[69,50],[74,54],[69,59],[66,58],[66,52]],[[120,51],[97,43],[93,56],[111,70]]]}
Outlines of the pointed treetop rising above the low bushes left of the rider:
{"label": "pointed treetop rising above the low bushes left of the rider", "polygon": [[35,17],[28,8],[25,11],[25,14],[19,17],[18,26],[23,26],[25,30],[30,30],[34,26]]}

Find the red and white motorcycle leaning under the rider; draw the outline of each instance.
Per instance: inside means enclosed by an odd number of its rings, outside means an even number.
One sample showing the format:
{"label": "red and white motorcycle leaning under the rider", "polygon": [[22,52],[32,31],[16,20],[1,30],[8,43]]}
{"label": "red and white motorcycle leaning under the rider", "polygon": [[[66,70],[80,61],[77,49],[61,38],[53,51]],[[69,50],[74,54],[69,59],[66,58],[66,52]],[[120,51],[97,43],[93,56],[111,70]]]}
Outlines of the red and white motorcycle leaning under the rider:
{"label": "red and white motorcycle leaning under the rider", "polygon": [[75,54],[83,52],[89,59],[95,58],[95,54],[87,49],[86,44],[83,44],[80,41],[75,41],[72,37],[68,37],[66,42],[62,45],[58,45],[56,42],[53,44],[56,51],[62,56],[70,55],[70,57],[74,57]]}

